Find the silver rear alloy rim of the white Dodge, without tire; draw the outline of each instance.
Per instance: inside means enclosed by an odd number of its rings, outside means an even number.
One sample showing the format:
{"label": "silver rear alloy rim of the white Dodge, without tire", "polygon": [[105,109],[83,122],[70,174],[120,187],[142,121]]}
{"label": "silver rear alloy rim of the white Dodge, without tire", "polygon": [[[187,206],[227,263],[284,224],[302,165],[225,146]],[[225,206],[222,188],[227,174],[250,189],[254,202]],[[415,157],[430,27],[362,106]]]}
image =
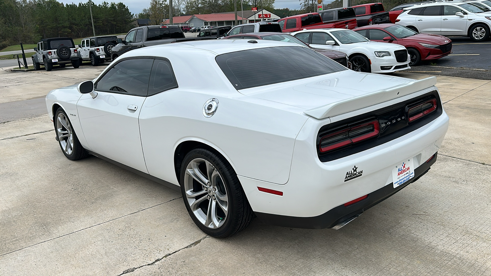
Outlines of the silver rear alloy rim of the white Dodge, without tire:
{"label": "silver rear alloy rim of the white Dodge, without tire", "polygon": [[196,219],[210,229],[222,226],[227,220],[229,198],[218,170],[209,161],[195,158],[186,167],[183,184]]}

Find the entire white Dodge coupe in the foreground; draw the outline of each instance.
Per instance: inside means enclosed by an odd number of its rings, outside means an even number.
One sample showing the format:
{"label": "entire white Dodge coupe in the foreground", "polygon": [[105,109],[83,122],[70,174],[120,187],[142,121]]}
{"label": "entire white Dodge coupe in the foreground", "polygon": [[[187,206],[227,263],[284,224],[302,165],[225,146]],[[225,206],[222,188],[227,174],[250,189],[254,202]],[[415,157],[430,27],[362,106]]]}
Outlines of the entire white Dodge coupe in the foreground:
{"label": "entire white Dodge coupe in the foreground", "polygon": [[128,52],[46,103],[68,159],[92,154],[178,189],[196,225],[226,237],[254,214],[338,229],[418,179],[448,128],[435,83],[224,39]]}

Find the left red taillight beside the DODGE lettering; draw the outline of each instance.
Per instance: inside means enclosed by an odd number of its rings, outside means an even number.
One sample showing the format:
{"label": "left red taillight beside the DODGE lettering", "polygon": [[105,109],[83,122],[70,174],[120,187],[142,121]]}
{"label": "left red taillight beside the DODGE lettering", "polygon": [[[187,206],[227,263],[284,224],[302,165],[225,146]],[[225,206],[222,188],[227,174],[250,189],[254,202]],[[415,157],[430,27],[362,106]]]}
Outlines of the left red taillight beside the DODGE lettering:
{"label": "left red taillight beside the DODGE lettering", "polygon": [[378,120],[347,127],[321,138],[319,150],[322,153],[326,153],[331,150],[376,137],[379,133],[380,124]]}

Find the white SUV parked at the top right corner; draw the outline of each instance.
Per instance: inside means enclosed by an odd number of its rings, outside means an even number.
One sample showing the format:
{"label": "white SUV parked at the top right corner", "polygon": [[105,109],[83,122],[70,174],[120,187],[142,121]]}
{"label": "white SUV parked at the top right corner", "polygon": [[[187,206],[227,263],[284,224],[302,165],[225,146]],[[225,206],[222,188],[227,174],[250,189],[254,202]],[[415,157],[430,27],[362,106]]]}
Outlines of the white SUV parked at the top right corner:
{"label": "white SUV parked at the top right corner", "polygon": [[491,12],[469,2],[436,2],[405,10],[396,24],[418,32],[468,36],[473,41],[484,41],[490,36]]}

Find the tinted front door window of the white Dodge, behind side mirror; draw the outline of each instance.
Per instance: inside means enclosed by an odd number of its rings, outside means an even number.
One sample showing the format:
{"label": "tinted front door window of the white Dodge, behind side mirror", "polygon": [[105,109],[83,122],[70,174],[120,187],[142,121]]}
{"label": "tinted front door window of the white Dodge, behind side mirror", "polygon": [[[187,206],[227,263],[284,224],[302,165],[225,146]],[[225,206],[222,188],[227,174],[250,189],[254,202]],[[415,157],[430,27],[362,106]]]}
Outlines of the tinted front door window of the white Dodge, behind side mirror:
{"label": "tinted front door window of the white Dodge, behind side mirror", "polygon": [[146,96],[153,59],[134,58],[118,62],[95,83],[101,91]]}

